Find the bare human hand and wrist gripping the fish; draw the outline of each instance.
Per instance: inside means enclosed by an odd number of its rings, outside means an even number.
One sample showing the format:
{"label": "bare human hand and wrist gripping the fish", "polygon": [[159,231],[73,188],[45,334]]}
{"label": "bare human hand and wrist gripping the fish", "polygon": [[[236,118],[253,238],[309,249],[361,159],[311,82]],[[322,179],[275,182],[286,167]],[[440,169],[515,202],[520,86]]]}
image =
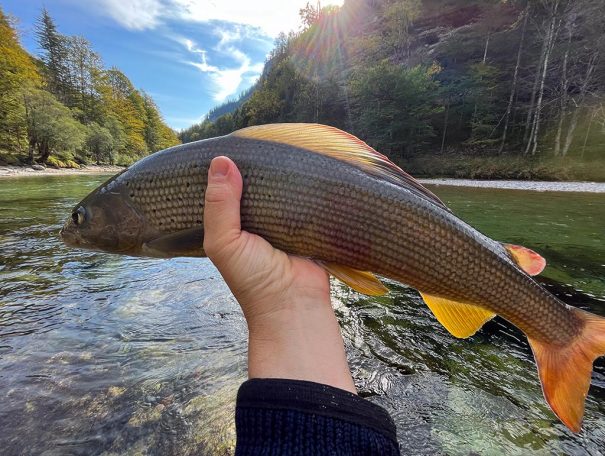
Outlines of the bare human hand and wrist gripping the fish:
{"label": "bare human hand and wrist gripping the fish", "polygon": [[355,393],[325,270],[242,231],[242,177],[212,160],[204,208],[204,250],[240,303],[249,331],[250,378],[309,380]]}

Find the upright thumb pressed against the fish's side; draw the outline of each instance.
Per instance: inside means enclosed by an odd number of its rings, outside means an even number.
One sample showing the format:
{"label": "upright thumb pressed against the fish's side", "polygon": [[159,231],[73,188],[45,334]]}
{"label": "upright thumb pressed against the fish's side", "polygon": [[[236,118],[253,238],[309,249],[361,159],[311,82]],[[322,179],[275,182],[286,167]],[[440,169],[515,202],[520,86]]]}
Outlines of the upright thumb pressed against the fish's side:
{"label": "upright thumb pressed against the fish's side", "polygon": [[227,157],[212,160],[204,203],[204,251],[215,264],[237,248],[242,186],[242,175],[233,161]]}

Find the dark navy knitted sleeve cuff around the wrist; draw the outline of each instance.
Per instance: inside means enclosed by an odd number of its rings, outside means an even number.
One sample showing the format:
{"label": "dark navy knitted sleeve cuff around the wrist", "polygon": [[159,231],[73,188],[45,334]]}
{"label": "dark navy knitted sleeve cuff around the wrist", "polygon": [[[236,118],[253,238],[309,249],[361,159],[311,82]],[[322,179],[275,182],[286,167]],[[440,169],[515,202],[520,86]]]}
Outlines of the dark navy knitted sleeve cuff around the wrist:
{"label": "dark navy knitted sleeve cuff around the wrist", "polygon": [[252,379],[237,394],[236,455],[398,455],[380,406],[319,383]]}

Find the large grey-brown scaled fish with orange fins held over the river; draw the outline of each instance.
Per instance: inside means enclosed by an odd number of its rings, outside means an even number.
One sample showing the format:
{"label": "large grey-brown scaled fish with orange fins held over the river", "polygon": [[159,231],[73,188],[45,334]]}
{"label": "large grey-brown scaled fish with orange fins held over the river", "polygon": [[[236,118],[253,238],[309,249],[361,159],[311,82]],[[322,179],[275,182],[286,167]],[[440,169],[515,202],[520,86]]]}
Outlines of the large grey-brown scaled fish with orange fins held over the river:
{"label": "large grey-brown scaled fish with orange fins held over the river", "polygon": [[268,124],[143,158],[75,206],[61,230],[72,247],[168,258],[205,256],[210,162],[243,178],[242,229],[307,257],[353,289],[419,291],[437,320],[468,338],[494,316],[528,338],[547,403],[580,432],[605,318],[562,302],[532,276],[545,260],[497,242],[357,137],[320,124]]}

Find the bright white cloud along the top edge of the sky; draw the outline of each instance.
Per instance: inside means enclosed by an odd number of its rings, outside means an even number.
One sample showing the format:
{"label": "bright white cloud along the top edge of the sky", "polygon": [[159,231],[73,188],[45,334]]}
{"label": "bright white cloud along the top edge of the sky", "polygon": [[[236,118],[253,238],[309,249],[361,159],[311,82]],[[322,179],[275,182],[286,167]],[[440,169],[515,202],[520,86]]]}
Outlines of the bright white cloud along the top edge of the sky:
{"label": "bright white cloud along the top edge of the sky", "polygon": [[[93,0],[99,11],[131,30],[157,27],[165,19],[219,20],[260,28],[269,36],[295,30],[309,0]],[[312,1],[312,0],[311,0]],[[93,2],[91,2],[93,3]],[[323,0],[322,6],[343,0]]]}

